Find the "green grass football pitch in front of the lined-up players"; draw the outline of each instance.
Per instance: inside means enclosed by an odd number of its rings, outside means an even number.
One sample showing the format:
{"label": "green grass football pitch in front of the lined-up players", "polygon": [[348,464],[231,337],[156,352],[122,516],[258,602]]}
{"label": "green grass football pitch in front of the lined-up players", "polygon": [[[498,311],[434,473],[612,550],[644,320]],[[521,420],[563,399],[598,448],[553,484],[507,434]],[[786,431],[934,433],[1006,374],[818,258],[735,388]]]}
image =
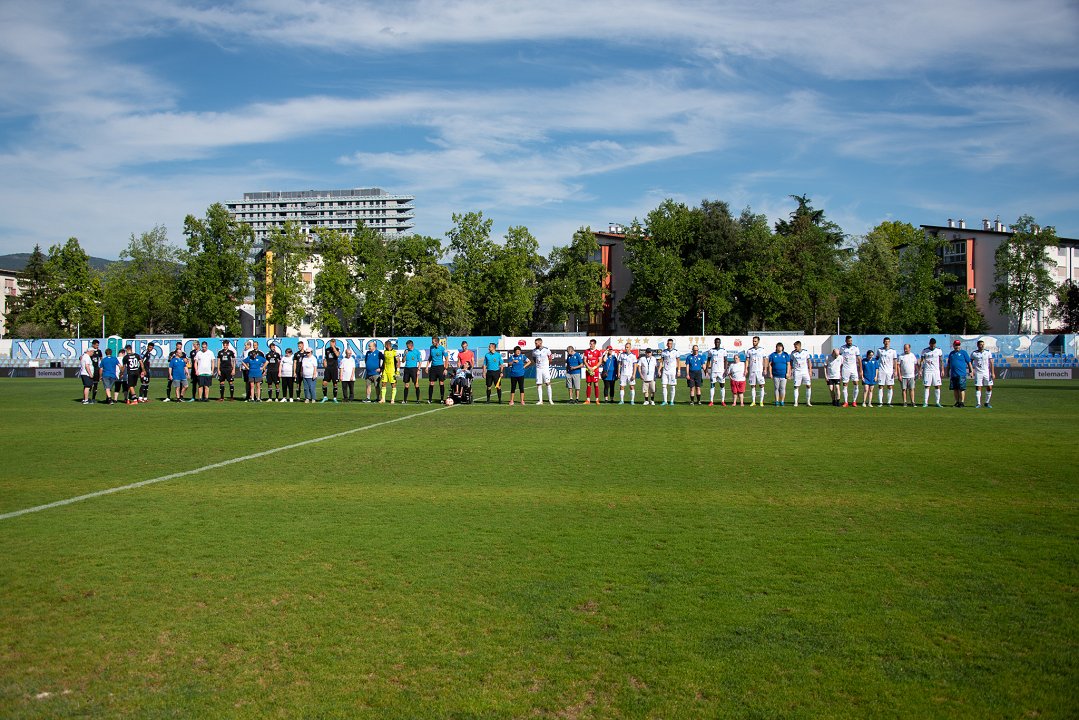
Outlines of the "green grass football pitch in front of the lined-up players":
{"label": "green grass football pitch in front of the lined-up players", "polygon": [[[429,409],[77,394],[0,380],[0,514]],[[479,404],[3,519],[0,717],[1074,718],[1079,383],[994,405]]]}

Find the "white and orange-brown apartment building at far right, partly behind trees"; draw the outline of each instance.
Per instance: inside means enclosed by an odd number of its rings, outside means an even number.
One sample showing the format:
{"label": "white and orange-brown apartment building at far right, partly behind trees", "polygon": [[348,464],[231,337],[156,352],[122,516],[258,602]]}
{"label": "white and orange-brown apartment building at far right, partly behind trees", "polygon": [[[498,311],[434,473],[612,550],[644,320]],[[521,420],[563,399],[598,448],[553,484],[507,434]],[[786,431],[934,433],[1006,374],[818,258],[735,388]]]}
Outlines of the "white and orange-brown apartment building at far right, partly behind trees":
{"label": "white and orange-brown apartment building at far right, partly behind trees", "polygon": [[[965,220],[948,219],[947,225],[924,225],[927,235],[947,241],[941,271],[957,277],[956,285],[974,299],[978,309],[985,315],[991,332],[1016,332],[1019,318],[1006,317],[989,302],[989,294],[996,285],[996,253],[1000,244],[1011,237],[1011,231],[997,218],[982,220],[981,228],[968,228]],[[1079,282],[1079,240],[1057,237],[1057,244],[1046,249],[1053,267],[1053,280]],[[1049,326],[1051,305],[1039,308],[1024,318],[1022,325],[1034,332],[1041,332]]]}

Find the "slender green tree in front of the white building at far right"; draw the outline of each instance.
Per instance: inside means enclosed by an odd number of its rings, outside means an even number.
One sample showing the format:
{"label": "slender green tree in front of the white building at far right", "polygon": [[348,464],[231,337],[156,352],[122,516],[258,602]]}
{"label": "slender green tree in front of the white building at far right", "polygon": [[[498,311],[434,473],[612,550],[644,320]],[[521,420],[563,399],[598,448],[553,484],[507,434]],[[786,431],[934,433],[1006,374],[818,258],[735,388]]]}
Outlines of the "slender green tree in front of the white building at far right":
{"label": "slender green tree in front of the white building at far right", "polygon": [[1039,228],[1024,215],[1012,226],[1011,236],[996,252],[996,286],[989,302],[1000,313],[1015,321],[1020,332],[1039,308],[1049,303],[1056,285],[1051,274],[1052,261],[1046,250],[1056,244],[1056,230]]}

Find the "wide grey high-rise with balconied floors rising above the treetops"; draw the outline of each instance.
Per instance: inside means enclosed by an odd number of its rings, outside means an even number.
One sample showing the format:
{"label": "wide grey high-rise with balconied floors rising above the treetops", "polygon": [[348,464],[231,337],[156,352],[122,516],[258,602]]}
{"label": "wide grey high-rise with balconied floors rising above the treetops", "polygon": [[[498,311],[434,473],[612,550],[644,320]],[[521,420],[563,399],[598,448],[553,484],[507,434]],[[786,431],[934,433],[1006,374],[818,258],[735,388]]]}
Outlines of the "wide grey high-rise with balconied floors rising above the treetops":
{"label": "wide grey high-rise with balconied floors rising above the treetops", "polygon": [[351,190],[287,190],[245,192],[243,200],[226,203],[229,213],[251,226],[256,245],[292,220],[302,232],[318,228],[355,230],[363,222],[385,234],[405,233],[415,225],[413,195],[392,195],[381,188]]}

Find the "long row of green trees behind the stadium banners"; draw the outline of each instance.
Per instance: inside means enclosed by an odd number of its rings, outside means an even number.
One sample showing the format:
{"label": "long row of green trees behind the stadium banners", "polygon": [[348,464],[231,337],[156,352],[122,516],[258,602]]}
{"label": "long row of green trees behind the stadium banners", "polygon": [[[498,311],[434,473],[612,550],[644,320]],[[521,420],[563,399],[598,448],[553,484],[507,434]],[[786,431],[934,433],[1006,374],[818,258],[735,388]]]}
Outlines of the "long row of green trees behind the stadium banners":
{"label": "long row of green trees behind the stadium banners", "polygon": [[[849,237],[808,198],[792,198],[795,209],[774,226],[709,200],[668,200],[634,220],[619,320],[647,334],[985,330],[973,299],[942,271],[946,239],[897,221]],[[103,273],[74,237],[47,254],[35,247],[5,320],[14,337],[95,335],[103,315],[124,337],[235,336],[236,308],[254,296],[269,298],[268,324],[305,322],[325,336],[524,335],[587,324],[614,299],[589,228],[547,256],[528,228],[501,239],[492,228],[480,212],[454,214],[445,242],[363,223],[306,234],[290,222],[252,256],[251,228],[214,204],[185,219],[183,247],[155,227],[133,234]],[[1046,248],[1055,242],[1052,228],[1020,218],[997,253],[991,301],[1023,317],[1055,293],[1054,320],[1075,330],[1079,290],[1052,280]]]}

